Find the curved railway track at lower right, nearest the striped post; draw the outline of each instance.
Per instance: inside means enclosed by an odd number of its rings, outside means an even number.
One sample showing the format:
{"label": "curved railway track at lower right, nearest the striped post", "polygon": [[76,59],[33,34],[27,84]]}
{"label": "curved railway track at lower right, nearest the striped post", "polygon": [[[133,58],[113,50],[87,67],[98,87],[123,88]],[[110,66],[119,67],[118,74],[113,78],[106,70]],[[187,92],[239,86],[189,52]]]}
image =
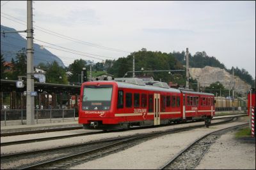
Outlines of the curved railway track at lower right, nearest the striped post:
{"label": "curved railway track at lower right, nearest the striped post", "polygon": [[172,160],[167,162],[160,169],[195,169],[212,143],[214,143],[216,139],[220,138],[221,134],[225,134],[232,129],[238,129],[244,126],[248,126],[248,123],[205,134],[175,155]]}

